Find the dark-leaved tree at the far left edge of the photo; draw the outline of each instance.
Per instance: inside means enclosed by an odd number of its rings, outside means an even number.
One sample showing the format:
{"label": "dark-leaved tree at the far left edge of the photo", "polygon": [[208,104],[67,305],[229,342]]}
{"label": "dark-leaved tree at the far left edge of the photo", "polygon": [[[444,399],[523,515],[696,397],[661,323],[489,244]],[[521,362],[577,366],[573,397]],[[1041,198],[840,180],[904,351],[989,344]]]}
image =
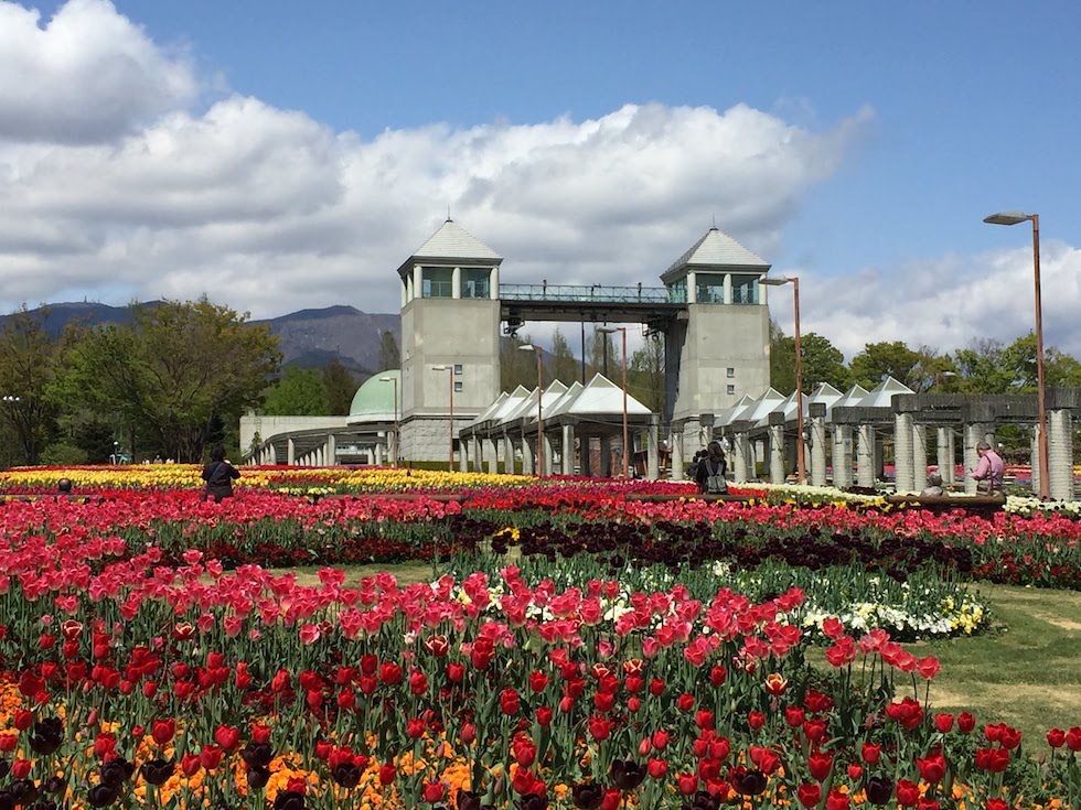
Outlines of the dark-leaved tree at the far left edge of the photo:
{"label": "dark-leaved tree at the far left edge of the photo", "polygon": [[38,463],[55,426],[47,395],[60,352],[45,330],[47,318],[47,309],[36,318],[23,307],[0,331],[0,419],[17,436],[25,464]]}

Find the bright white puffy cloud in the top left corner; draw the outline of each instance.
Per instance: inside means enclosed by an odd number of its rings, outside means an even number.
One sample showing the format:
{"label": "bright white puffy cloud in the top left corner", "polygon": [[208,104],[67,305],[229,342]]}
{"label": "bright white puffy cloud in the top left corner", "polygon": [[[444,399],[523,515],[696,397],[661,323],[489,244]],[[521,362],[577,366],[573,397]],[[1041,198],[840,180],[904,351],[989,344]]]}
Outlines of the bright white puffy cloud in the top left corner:
{"label": "bright white puffy cloud in the top left corner", "polygon": [[0,2],[0,140],[107,141],[196,90],[188,60],[106,0],[71,0],[44,26],[36,9]]}

